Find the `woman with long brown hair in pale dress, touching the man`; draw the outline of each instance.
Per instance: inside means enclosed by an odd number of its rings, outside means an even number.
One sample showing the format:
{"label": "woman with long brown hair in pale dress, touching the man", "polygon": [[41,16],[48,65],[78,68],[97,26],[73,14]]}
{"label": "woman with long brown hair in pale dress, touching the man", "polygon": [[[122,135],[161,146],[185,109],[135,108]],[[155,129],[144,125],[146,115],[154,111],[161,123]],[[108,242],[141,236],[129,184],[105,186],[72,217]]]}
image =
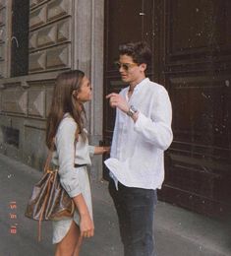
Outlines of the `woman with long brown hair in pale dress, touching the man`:
{"label": "woman with long brown hair in pale dress, touching the man", "polygon": [[47,118],[46,144],[53,150],[53,163],[59,165],[60,182],[74,200],[74,217],[53,222],[55,256],[78,256],[83,237],[94,232],[87,165],[93,154],[108,148],[88,146],[84,127],[84,103],[91,99],[91,85],[80,70],[57,77]]}

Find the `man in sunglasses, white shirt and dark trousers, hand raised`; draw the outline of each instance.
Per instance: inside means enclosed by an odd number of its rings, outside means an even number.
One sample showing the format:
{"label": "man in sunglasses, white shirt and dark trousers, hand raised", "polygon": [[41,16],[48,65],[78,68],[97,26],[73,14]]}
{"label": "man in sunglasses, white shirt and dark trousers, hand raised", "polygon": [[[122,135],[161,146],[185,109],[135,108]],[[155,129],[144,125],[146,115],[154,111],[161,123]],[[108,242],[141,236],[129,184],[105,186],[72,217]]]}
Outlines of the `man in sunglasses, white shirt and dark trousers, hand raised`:
{"label": "man in sunglasses, white shirt and dark trousers, hand raised", "polygon": [[109,192],[118,214],[125,256],[153,256],[156,189],[164,179],[164,151],[172,142],[172,110],[164,87],[145,77],[151,52],[145,42],[120,45],[117,63],[129,87],[108,96],[116,107]]}

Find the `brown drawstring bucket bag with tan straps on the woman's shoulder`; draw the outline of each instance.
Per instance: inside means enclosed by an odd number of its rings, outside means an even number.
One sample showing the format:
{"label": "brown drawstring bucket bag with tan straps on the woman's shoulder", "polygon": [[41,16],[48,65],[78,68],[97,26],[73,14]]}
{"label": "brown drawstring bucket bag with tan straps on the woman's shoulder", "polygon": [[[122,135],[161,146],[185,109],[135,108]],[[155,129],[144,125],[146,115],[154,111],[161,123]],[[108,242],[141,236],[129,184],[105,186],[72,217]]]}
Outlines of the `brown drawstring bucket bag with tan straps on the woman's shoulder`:
{"label": "brown drawstring bucket bag with tan straps on the woman's shoulder", "polygon": [[25,216],[38,221],[40,241],[41,221],[59,221],[73,217],[75,204],[60,184],[58,169],[50,169],[52,150],[45,162],[44,174],[34,185]]}

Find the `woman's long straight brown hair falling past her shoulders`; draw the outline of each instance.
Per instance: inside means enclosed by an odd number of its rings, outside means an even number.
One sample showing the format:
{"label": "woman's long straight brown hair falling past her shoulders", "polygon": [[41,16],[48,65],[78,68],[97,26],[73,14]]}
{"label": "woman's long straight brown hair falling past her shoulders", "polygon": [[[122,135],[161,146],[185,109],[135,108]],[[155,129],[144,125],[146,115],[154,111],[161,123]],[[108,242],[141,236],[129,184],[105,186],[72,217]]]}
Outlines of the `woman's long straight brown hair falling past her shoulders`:
{"label": "woman's long straight brown hair falling past her shoulders", "polygon": [[[77,122],[79,132],[84,135],[84,118],[86,112],[83,103],[79,102],[74,91],[80,91],[85,73],[81,70],[71,70],[58,75],[53,91],[50,112],[46,125],[46,146],[53,149],[53,140],[58,126],[65,113],[70,113]],[[67,135],[68,136],[68,135]]]}

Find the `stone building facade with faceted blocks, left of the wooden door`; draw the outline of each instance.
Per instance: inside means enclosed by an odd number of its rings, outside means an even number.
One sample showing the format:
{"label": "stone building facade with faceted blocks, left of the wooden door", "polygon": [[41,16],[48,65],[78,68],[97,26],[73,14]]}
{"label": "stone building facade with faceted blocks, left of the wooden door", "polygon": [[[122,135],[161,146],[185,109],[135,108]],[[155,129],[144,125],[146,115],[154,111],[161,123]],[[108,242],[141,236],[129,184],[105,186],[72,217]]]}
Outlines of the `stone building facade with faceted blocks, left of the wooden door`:
{"label": "stone building facade with faceted blocks, left of the wooden door", "polygon": [[[67,69],[84,70],[92,82],[87,128],[90,142],[99,143],[102,28],[103,0],[0,0],[1,153],[41,169],[54,79]],[[101,160],[93,166],[93,176],[100,177]]]}

